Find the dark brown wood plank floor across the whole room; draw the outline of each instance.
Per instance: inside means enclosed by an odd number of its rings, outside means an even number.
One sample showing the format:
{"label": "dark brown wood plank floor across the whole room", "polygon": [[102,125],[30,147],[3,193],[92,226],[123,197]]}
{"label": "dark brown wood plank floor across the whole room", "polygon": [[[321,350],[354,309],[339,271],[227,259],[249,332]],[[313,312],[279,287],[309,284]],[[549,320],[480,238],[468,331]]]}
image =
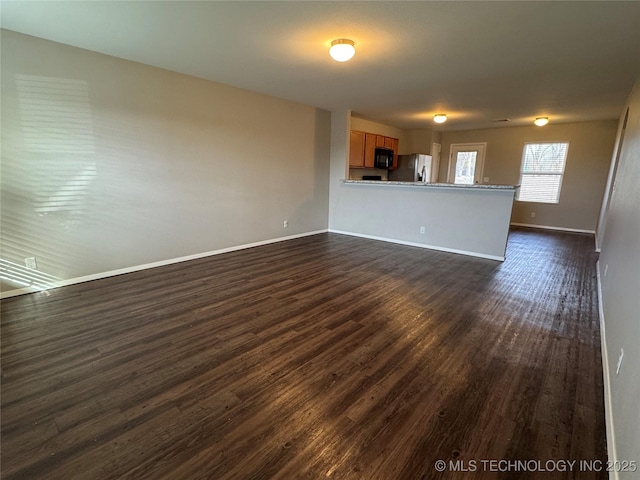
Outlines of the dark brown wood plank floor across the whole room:
{"label": "dark brown wood plank floor across the whole room", "polygon": [[322,234],[3,300],[2,478],[605,479],[481,463],[606,461],[595,261]]}

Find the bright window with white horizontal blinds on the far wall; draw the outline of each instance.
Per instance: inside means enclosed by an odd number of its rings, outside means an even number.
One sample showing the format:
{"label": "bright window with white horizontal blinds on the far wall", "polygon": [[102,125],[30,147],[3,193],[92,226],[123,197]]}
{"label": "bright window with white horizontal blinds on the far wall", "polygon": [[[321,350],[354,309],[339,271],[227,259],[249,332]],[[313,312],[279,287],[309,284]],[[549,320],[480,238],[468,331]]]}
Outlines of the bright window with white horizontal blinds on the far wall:
{"label": "bright window with white horizontal blinds on the far wall", "polygon": [[558,203],[568,150],[568,142],[525,143],[518,200]]}

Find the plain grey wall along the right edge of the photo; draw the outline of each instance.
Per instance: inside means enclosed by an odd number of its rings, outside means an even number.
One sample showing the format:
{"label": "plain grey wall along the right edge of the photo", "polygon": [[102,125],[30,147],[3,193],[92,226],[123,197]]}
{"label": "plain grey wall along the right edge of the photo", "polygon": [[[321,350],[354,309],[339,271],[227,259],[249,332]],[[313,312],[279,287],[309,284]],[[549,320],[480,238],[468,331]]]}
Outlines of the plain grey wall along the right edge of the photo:
{"label": "plain grey wall along the right edge of the photo", "polygon": [[[640,452],[640,78],[629,98],[629,118],[613,181],[598,268],[610,379],[609,431],[616,458],[638,461]],[[626,108],[625,108],[626,112]],[[624,115],[624,113],[623,113]],[[621,350],[620,372],[616,367]],[[605,352],[603,352],[605,353]],[[620,478],[632,478],[620,474]],[[634,477],[635,478],[635,477]]]}

